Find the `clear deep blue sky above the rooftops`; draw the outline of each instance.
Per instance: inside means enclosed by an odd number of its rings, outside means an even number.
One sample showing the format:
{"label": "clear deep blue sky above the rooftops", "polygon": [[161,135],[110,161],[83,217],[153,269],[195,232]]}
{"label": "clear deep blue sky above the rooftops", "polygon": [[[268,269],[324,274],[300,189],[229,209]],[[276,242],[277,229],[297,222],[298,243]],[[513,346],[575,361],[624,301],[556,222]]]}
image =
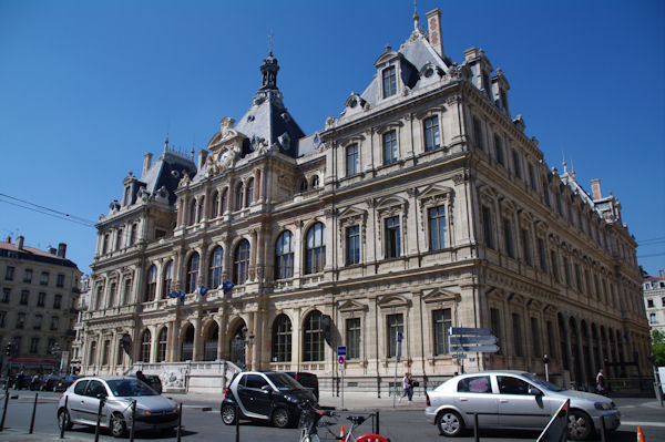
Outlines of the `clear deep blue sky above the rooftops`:
{"label": "clear deep blue sky above the rooftops", "polygon": [[[511,111],[550,166],[623,206],[649,274],[665,268],[665,3],[419,1],[442,10],[446,53],[485,50]],[[9,203],[96,220],[143,154],[204,148],[260,84],[274,33],[278,85],[306,133],[362,92],[386,44],[412,30],[410,1],[0,0],[0,236],[68,243],[89,273],[96,230]],[[23,204],[23,203],[20,203]]]}

